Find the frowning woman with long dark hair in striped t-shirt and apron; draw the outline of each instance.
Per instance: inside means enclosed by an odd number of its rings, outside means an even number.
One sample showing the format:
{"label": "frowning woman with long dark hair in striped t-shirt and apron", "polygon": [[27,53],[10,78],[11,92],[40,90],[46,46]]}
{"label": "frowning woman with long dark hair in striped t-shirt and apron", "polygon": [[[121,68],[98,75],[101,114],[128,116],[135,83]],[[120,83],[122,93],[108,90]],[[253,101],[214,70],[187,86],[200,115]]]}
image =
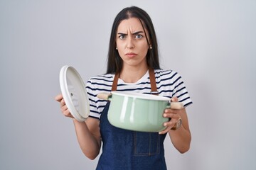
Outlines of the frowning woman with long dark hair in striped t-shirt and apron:
{"label": "frowning woman with long dark hair in striped t-shirt and apron", "polygon": [[[188,151],[191,133],[185,108],[192,101],[179,74],[160,69],[157,49],[154,26],[145,11],[132,6],[117,14],[110,36],[107,73],[87,81],[90,117],[82,123],[73,119],[80,148],[86,157],[95,159],[103,144],[97,169],[166,169],[163,143],[167,133],[179,152]],[[152,77],[155,82],[150,81]],[[156,86],[155,91],[151,90],[152,86]],[[164,123],[166,129],[161,132],[122,130],[110,125],[107,120],[109,103],[97,98],[99,93],[114,90],[158,93],[182,102],[184,108],[163,111],[163,116],[170,121]],[[60,94],[55,100],[60,102],[63,114],[73,118],[63,96]]]}

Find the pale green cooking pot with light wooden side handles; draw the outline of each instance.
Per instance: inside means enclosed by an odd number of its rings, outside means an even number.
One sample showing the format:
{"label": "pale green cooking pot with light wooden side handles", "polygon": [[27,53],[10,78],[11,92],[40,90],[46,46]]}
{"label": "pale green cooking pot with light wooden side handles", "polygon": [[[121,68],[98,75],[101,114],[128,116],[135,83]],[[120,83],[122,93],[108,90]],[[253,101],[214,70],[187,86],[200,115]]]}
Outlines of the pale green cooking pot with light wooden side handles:
{"label": "pale green cooking pot with light wooden side handles", "polygon": [[110,124],[125,130],[159,132],[164,130],[166,108],[181,109],[181,102],[171,102],[171,98],[127,91],[112,91],[98,94],[98,98],[110,101],[107,118]]}

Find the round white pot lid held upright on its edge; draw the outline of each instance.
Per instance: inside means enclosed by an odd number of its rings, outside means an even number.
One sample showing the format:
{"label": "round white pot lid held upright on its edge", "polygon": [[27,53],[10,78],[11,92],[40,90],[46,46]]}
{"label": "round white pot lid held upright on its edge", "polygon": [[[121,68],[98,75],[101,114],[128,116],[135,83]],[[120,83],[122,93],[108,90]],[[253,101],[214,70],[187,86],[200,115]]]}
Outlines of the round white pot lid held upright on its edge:
{"label": "round white pot lid held upright on its edge", "polygon": [[73,117],[85,121],[90,113],[90,103],[85,84],[75,68],[65,65],[60,69],[60,90]]}

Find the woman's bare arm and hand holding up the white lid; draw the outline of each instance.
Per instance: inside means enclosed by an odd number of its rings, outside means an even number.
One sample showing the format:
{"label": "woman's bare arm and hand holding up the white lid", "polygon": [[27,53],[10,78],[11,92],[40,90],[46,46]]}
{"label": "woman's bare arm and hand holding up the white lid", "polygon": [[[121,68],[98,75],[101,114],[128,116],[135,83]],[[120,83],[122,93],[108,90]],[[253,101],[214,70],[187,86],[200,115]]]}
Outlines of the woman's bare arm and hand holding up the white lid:
{"label": "woman's bare arm and hand holding up the white lid", "polygon": [[[63,96],[60,94],[55,97],[55,100],[60,102],[60,110],[63,115],[73,118],[65,105]],[[82,152],[89,159],[95,159],[99,154],[101,147],[100,120],[87,118],[85,122],[79,122],[73,118],[73,123],[75,125],[75,132]]]}

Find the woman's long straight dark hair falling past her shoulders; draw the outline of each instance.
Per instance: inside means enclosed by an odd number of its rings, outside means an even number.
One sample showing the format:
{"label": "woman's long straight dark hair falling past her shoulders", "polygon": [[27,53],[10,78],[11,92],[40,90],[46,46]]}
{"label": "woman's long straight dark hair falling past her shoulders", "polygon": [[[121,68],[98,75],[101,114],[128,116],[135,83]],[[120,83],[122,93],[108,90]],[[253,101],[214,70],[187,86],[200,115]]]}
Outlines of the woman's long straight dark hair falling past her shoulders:
{"label": "woman's long straight dark hair falling past her shoulders", "polygon": [[146,40],[148,45],[152,48],[149,49],[146,54],[146,62],[149,68],[160,69],[156,33],[151,18],[149,17],[149,14],[146,13],[146,11],[144,11],[142,8],[138,8],[137,6],[131,6],[124,8],[122,11],[120,11],[114,19],[110,35],[110,47],[107,60],[107,74],[120,73],[122,70],[122,58],[119,56],[119,53],[116,50],[117,28],[121,21],[129,18],[138,18],[139,21],[142,23],[143,29],[146,29],[149,32],[149,38],[146,37]]}

